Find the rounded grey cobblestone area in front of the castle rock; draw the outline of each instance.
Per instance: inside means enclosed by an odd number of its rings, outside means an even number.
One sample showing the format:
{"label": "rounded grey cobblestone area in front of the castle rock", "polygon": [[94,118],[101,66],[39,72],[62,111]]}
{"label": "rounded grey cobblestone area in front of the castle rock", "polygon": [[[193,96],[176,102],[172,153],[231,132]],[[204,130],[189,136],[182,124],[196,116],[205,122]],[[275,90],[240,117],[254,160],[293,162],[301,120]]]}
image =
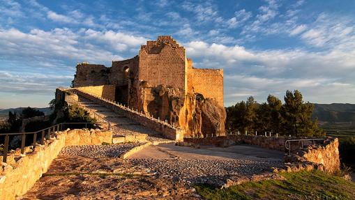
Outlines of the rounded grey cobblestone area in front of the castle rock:
{"label": "rounded grey cobblestone area in front of the castle rock", "polygon": [[[249,148],[254,148],[250,146]],[[209,151],[190,147],[176,147],[172,144],[152,146],[130,157],[130,162],[185,183],[209,183],[222,186],[227,180],[262,180],[273,178],[271,167],[282,167],[282,153],[265,159],[238,153]],[[165,153],[162,155],[156,153]],[[265,150],[267,151],[267,150]],[[139,156],[142,154],[142,156]],[[146,156],[152,154],[154,157]],[[144,158],[147,157],[147,158]]]}

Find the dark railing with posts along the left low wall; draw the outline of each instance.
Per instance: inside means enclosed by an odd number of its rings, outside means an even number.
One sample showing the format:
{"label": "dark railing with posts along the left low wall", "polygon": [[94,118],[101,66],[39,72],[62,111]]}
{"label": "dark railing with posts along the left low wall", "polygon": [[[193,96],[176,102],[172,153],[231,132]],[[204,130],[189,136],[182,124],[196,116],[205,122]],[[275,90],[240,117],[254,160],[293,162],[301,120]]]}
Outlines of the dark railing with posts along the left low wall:
{"label": "dark railing with posts along the left low wall", "polygon": [[68,123],[58,123],[56,125],[52,125],[49,128],[45,128],[43,130],[38,130],[36,132],[10,132],[10,133],[0,133],[0,137],[4,136],[5,141],[3,142],[3,162],[6,162],[8,156],[8,142],[10,140],[10,135],[22,135],[21,139],[21,154],[24,154],[24,147],[26,144],[26,135],[33,134],[33,147],[36,146],[37,142],[37,133],[41,134],[40,144],[44,144],[45,142],[45,133],[47,132],[47,139],[50,139],[51,136],[55,135],[56,131],[63,130],[63,125],[70,124],[85,124],[85,128],[87,128],[87,124],[93,124],[90,122],[68,122]]}

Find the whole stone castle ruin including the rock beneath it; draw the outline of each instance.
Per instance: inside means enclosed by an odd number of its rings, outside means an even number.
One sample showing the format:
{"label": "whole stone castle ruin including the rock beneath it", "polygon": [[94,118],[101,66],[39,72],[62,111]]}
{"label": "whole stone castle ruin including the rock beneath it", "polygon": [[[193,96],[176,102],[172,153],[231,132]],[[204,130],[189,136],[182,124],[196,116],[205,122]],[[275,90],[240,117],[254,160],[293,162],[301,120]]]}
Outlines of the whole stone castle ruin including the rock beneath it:
{"label": "whole stone castle ruin including the rock beneath it", "polygon": [[73,86],[167,121],[185,137],[225,134],[223,70],[194,68],[171,36],[147,41],[110,68],[78,64]]}

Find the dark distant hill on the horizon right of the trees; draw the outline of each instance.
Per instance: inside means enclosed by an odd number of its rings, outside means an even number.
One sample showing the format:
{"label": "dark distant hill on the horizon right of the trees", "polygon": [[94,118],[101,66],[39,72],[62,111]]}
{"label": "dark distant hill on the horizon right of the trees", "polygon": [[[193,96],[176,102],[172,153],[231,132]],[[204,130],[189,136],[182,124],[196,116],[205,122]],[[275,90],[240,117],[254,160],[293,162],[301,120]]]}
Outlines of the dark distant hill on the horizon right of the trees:
{"label": "dark distant hill on the horizon right of the trees", "polygon": [[317,117],[319,121],[355,121],[355,104],[315,104],[312,117]]}

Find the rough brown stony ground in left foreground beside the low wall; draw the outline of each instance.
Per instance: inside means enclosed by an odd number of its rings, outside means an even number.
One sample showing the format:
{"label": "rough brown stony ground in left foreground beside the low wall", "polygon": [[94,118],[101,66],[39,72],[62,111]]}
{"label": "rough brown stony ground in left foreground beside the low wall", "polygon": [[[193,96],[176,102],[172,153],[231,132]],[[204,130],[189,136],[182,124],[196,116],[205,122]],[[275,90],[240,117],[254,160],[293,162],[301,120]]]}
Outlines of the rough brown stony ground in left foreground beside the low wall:
{"label": "rough brown stony ground in left foreground beside the low wall", "polygon": [[105,153],[109,148],[122,153],[128,146],[63,148],[47,173],[18,199],[201,199],[190,185],[112,157]]}

